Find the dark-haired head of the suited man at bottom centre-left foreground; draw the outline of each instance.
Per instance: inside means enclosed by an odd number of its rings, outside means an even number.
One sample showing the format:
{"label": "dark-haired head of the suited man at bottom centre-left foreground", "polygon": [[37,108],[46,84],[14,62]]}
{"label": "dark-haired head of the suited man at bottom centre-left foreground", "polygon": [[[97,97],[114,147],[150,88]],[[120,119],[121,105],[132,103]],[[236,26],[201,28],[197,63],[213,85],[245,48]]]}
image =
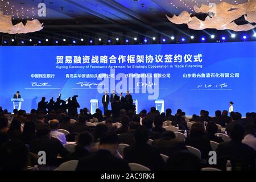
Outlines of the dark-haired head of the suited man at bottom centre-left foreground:
{"label": "dark-haired head of the suited man at bottom centre-left foreground", "polygon": [[115,133],[105,133],[100,139],[100,150],[108,150],[111,154],[115,154],[118,147],[118,136]]}

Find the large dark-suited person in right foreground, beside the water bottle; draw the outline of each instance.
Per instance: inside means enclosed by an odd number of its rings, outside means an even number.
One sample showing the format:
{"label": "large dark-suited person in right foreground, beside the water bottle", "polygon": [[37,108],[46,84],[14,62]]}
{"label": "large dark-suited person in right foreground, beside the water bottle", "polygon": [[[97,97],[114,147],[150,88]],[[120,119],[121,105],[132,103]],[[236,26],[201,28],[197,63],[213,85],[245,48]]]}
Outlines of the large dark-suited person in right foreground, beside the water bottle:
{"label": "large dark-suited person in right foreground, beside the water bottle", "polygon": [[245,131],[243,130],[243,126],[235,123],[230,130],[230,142],[222,142],[218,144],[218,148],[216,150],[217,156],[218,158],[229,156],[236,160],[240,160],[240,162],[242,162],[241,166],[245,164],[247,169],[254,170],[255,152],[253,148],[242,143],[244,133]]}

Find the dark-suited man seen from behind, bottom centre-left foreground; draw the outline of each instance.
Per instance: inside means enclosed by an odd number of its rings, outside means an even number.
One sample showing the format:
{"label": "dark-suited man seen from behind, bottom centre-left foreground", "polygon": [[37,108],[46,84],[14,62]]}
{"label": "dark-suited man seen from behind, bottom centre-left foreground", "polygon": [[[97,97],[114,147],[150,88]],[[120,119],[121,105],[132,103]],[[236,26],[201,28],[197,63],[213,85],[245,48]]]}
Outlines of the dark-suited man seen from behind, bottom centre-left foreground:
{"label": "dark-suited man seen from behind, bottom centre-left foreground", "polygon": [[77,164],[77,171],[130,171],[128,163],[115,157],[118,147],[118,137],[107,133],[100,139],[99,150],[90,156],[82,158]]}

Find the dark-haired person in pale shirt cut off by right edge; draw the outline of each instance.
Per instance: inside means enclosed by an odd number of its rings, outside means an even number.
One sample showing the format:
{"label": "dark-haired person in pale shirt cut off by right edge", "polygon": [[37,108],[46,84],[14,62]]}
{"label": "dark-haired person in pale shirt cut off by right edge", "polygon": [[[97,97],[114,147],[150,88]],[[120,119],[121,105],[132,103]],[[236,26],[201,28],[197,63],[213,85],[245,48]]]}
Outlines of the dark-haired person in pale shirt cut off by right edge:
{"label": "dark-haired person in pale shirt cut off by right edge", "polygon": [[253,123],[245,125],[245,137],[243,137],[242,143],[247,144],[256,151],[255,125]]}

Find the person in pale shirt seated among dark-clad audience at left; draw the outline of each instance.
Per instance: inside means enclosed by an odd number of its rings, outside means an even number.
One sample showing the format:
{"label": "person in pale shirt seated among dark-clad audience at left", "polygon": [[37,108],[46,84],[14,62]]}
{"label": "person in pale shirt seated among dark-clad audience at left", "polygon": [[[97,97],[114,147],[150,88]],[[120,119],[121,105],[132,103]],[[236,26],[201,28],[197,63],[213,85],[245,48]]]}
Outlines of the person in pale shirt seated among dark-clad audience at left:
{"label": "person in pale shirt seated among dark-clad audience at left", "polygon": [[50,133],[51,137],[60,140],[61,144],[66,144],[67,140],[66,140],[65,134],[57,131],[59,127],[60,127],[60,123],[57,119],[52,119],[49,121],[49,128],[51,129],[51,133]]}

